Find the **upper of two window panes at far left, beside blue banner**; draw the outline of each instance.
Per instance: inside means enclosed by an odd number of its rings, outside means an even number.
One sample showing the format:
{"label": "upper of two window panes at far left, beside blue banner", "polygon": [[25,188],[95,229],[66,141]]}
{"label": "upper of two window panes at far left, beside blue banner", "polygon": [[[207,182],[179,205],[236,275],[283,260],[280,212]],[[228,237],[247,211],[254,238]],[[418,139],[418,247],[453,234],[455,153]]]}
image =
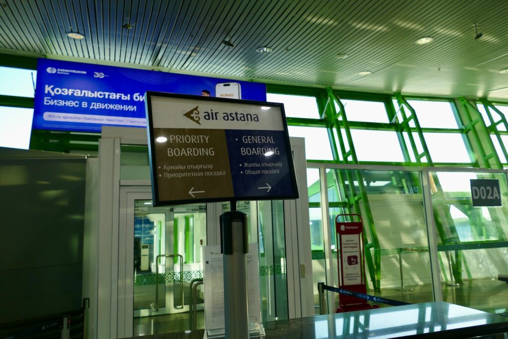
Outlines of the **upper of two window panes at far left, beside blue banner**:
{"label": "upper of two window panes at far left, beside blue banner", "polygon": [[34,98],[37,72],[0,66],[0,95]]}

